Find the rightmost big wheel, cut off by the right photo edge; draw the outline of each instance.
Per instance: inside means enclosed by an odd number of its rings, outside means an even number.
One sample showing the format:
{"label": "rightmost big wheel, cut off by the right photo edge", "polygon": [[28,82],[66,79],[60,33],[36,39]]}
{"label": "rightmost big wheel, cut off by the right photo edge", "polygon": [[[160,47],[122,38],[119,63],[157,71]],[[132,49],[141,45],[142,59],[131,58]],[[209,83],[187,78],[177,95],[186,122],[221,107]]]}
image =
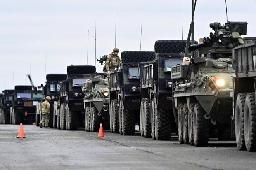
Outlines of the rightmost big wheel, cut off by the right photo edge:
{"label": "rightmost big wheel, cut off by the right photo edge", "polygon": [[255,93],[247,93],[244,102],[244,140],[247,151],[256,151]]}

